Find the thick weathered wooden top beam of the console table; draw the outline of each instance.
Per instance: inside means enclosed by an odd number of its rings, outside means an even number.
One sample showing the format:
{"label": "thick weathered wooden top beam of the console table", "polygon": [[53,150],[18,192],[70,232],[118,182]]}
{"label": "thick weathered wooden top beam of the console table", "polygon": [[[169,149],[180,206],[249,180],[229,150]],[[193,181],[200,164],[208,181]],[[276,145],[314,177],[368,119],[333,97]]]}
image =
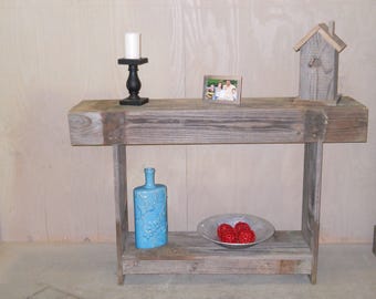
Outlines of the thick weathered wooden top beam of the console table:
{"label": "thick weathered wooden top beam of the console table", "polygon": [[69,114],[73,145],[305,143],[317,141],[312,126],[325,125],[324,142],[365,142],[367,117],[349,97],[337,106],[293,97],[243,99],[241,106],[199,99],[152,100],[140,107],[83,101]]}

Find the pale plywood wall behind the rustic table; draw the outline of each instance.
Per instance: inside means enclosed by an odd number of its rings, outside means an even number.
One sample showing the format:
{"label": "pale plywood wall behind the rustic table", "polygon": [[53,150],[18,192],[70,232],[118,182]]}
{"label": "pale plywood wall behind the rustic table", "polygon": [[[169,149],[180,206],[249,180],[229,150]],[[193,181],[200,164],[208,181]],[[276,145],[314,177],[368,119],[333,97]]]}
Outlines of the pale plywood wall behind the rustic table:
{"label": "pale plywood wall behind the rustic table", "polygon": [[[293,45],[335,20],[348,44],[338,89],[369,107],[369,134],[366,144],[324,146],[321,239],[370,243],[375,16],[373,0],[2,0],[0,240],[114,240],[112,148],[72,147],[66,114],[84,99],[125,95],[126,71],[116,63],[125,32],[143,34],[145,96],[199,97],[208,73],[242,75],[243,96],[294,96]],[[130,189],[145,166],[168,186],[171,230],[227,212],[300,229],[301,145],[135,146],[127,161]],[[132,200],[129,208],[133,219]]]}

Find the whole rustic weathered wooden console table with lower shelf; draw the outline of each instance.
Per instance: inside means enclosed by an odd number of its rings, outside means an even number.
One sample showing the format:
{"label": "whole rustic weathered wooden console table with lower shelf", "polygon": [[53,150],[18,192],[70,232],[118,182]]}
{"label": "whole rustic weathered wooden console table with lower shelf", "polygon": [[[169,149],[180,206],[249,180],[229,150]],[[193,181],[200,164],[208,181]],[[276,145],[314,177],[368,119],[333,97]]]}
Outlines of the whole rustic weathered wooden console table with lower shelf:
{"label": "whole rustic weathered wooden console table with lower shelf", "polygon": [[[112,145],[118,283],[126,274],[304,274],[316,282],[323,143],[366,142],[368,111],[351,97],[336,106],[292,97],[243,99],[241,106],[199,99],[152,100],[143,106],[83,101],[69,113],[72,145]],[[127,145],[302,143],[301,230],[265,243],[221,248],[194,231],[169,233],[167,246],[140,250],[127,224]]]}

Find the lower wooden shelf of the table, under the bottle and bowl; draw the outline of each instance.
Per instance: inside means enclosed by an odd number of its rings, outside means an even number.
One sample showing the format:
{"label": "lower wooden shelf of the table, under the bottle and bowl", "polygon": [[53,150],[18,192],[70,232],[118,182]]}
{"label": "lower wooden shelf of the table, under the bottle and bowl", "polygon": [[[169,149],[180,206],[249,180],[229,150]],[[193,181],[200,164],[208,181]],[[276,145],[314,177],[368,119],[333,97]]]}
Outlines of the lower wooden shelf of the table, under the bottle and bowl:
{"label": "lower wooden shelf of the table, under the bottle and bowl", "polygon": [[127,274],[306,274],[313,254],[300,230],[278,230],[269,240],[244,249],[227,249],[197,233],[169,233],[168,245],[136,249],[128,233],[123,254]]}

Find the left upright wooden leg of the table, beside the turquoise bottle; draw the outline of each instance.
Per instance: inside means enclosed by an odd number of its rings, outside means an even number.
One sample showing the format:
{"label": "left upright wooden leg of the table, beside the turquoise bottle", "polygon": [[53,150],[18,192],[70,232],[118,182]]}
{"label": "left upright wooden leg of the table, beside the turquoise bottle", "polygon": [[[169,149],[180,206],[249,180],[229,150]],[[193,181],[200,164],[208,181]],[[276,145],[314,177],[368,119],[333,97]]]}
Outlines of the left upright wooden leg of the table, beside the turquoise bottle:
{"label": "left upright wooden leg of the table, beside the turquoise bottle", "polygon": [[124,281],[122,256],[125,250],[126,237],[128,234],[125,145],[114,145],[113,152],[115,177],[117,282],[122,285]]}

